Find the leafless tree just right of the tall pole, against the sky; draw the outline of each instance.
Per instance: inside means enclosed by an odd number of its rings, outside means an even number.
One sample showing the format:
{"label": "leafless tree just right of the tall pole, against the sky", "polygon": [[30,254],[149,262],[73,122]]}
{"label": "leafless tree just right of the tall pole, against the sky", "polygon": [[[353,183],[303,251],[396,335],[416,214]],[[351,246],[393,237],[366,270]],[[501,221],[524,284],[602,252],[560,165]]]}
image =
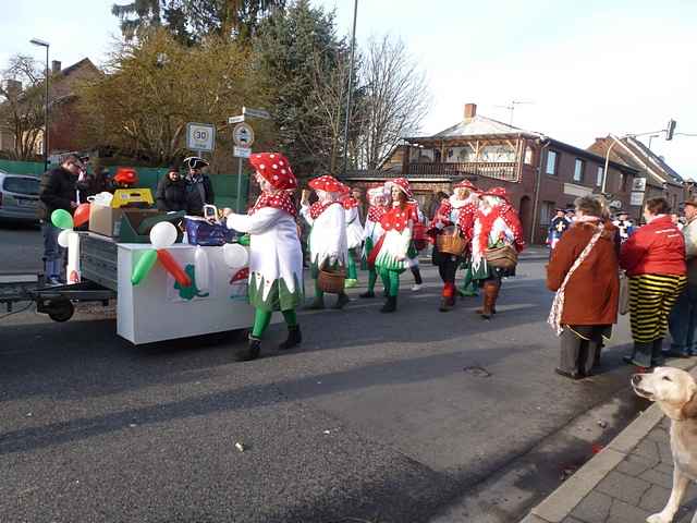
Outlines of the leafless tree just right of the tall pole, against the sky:
{"label": "leafless tree just right of the tall pole, against the sky", "polygon": [[400,38],[368,42],[362,70],[363,100],[357,167],[377,169],[403,136],[419,131],[431,97],[426,74]]}

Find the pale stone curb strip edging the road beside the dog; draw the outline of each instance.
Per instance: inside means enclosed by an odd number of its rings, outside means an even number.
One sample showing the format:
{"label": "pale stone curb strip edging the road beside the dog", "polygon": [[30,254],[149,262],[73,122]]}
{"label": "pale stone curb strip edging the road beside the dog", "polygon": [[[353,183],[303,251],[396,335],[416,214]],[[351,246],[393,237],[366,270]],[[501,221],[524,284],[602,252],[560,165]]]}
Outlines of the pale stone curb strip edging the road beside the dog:
{"label": "pale stone curb strip edging the road beside the dog", "polygon": [[[689,370],[695,365],[697,363],[692,358],[671,362],[672,367],[683,370]],[[661,419],[663,419],[663,412],[657,404],[641,412],[610,445],[592,457],[541,503],[533,508],[519,523],[561,523]]]}

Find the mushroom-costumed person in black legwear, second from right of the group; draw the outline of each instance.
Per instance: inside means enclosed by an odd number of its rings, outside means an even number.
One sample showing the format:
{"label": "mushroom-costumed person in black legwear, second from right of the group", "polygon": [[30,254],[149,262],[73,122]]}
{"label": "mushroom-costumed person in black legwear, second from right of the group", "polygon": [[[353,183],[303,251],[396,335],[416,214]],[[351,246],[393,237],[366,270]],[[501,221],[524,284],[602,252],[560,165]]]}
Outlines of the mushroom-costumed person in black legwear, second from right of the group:
{"label": "mushroom-costumed person in black legwear, second from right of the group", "polygon": [[[431,232],[435,236],[449,234],[453,228],[457,228],[460,234],[467,241],[472,241],[474,233],[475,214],[479,204],[477,188],[468,180],[453,186],[455,193],[444,199],[431,222]],[[443,280],[443,291],[441,295],[440,312],[451,311],[455,305],[456,289],[455,273],[457,268],[466,258],[466,253],[456,256],[450,253],[440,252],[438,242],[433,245],[432,262],[438,267],[438,272]]]}

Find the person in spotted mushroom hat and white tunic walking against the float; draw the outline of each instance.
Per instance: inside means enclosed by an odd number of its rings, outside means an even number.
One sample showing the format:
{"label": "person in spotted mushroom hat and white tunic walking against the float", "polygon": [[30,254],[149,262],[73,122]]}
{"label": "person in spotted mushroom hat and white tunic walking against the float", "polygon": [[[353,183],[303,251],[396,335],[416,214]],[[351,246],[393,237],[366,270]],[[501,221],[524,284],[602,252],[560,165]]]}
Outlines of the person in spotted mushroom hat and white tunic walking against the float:
{"label": "person in spotted mushroom hat and white tunic walking against the float", "polygon": [[247,215],[227,214],[230,229],[250,235],[249,303],[256,312],[248,345],[235,353],[239,361],[259,356],[273,311],[283,314],[289,331],[279,348],[291,349],[302,341],[295,309],[303,301],[303,253],[295,223],[297,210],[290,194],[297,188],[297,181],[279,153],[254,154],[249,163],[261,194]]}

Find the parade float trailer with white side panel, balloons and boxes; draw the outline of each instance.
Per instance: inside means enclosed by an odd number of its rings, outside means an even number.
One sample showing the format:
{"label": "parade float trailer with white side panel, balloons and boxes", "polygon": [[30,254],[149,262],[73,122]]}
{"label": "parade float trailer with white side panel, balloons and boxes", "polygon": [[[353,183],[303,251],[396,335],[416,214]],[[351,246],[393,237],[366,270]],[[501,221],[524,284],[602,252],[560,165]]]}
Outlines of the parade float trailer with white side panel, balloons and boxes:
{"label": "parade float trailer with white side panel, balloons and boxes", "polygon": [[134,344],[247,328],[248,235],[228,229],[212,206],[201,218],[152,204],[147,188],[121,188],[73,215],[56,210],[66,283],[17,275],[0,280],[0,303],[11,309],[34,301],[39,313],[65,321],[76,302],[118,299],[117,333]]}

